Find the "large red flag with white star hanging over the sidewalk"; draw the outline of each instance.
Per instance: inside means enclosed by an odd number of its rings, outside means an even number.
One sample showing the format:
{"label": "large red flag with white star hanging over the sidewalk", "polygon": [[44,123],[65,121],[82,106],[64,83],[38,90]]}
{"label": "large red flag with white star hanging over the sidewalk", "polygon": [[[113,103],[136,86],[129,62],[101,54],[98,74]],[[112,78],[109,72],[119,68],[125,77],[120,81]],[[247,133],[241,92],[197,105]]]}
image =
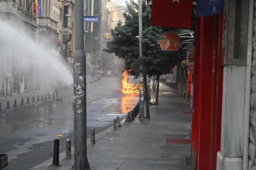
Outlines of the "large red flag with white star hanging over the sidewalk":
{"label": "large red flag with white star hanging over the sidewalk", "polygon": [[192,0],[153,0],[151,25],[190,28]]}

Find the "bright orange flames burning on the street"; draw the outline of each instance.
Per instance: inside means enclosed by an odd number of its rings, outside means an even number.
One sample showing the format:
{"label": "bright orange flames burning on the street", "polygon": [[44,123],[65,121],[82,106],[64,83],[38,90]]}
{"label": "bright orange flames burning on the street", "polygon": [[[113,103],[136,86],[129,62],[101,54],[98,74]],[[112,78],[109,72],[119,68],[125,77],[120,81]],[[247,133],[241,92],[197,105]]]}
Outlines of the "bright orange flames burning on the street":
{"label": "bright orange flames burning on the street", "polygon": [[130,94],[138,94],[139,93],[139,88],[138,85],[134,85],[133,83],[129,83],[127,81],[129,74],[127,70],[123,72],[123,79],[121,80],[122,82],[122,93],[130,93]]}

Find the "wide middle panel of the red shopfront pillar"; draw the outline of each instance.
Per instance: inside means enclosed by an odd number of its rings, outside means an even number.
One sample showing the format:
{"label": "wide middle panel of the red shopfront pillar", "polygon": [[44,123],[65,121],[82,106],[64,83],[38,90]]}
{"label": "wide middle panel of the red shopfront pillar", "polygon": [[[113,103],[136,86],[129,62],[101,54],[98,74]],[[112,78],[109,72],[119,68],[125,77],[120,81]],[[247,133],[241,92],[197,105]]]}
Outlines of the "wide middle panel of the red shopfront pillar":
{"label": "wide middle panel of the red shopfront pillar", "polygon": [[211,102],[214,16],[200,18],[200,67],[198,94],[198,147],[196,169],[210,170],[212,156]]}

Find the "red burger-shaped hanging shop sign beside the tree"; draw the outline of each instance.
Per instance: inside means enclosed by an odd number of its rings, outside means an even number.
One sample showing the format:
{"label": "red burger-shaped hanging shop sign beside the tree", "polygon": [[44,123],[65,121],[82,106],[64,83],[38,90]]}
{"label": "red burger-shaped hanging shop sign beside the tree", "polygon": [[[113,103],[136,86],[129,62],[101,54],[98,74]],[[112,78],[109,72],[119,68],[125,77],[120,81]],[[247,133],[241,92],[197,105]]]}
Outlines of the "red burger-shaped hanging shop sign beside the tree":
{"label": "red burger-shaped hanging shop sign beside the tree", "polygon": [[180,47],[182,47],[180,37],[172,32],[166,32],[161,37],[164,40],[158,40],[157,44],[159,44],[164,51],[178,51]]}

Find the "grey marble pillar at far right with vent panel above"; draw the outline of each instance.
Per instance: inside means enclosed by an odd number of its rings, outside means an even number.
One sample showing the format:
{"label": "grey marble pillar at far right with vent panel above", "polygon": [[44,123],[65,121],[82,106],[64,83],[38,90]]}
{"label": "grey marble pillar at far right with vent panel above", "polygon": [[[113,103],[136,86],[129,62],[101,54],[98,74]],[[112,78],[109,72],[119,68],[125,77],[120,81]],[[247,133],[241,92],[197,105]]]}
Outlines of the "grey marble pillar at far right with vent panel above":
{"label": "grey marble pillar at far right with vent panel above", "polygon": [[[227,43],[226,51],[228,52],[223,57],[221,146],[217,155],[216,170],[255,169],[255,148],[252,149],[248,146],[249,137],[250,141],[254,142],[255,139],[255,136],[251,136],[255,134],[255,131],[253,130],[252,134],[249,132],[249,126],[253,124],[252,121],[250,122],[250,117],[253,117],[250,114],[250,105],[251,107],[254,106],[252,101],[253,93],[251,93],[251,67],[254,64],[252,62],[252,55],[254,58],[254,50],[256,49],[256,44],[252,43],[255,41],[255,35],[253,35],[253,30],[255,31],[254,16],[256,16],[254,12],[255,0],[241,1],[240,3],[241,18],[239,28],[234,28],[236,24],[229,22],[234,20],[232,18],[234,16],[234,10],[232,10],[232,7],[234,9],[234,4],[231,1],[227,3],[227,32],[232,30],[233,32],[231,31],[230,37],[234,35],[239,36],[239,42],[236,40],[232,42],[231,39],[232,44]],[[235,8],[237,7],[235,6]],[[246,16],[247,14],[249,15]],[[227,40],[229,40],[228,36]],[[237,63],[232,61],[232,58],[235,58],[235,49],[233,48],[235,45],[239,56],[237,60],[239,62]],[[231,61],[228,61],[229,59]],[[252,86],[253,84],[252,82]],[[249,162],[253,161],[249,167],[248,154],[252,156]]]}

